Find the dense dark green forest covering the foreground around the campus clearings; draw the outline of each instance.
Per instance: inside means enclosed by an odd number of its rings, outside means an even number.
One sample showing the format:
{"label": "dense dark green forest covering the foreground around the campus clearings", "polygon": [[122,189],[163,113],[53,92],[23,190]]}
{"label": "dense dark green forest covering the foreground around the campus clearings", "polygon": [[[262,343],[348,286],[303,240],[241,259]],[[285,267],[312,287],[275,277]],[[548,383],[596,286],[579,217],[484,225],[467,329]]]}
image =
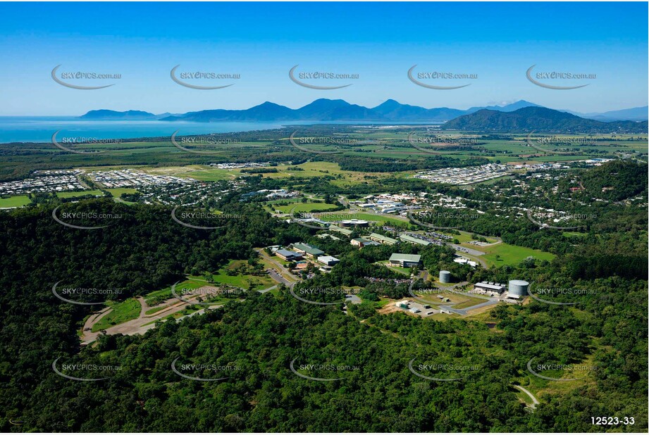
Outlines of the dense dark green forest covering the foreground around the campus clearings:
{"label": "dense dark green forest covering the foreground around the campus clearings", "polygon": [[[362,306],[350,307],[347,315],[340,305],[303,303],[285,289],[275,295],[252,291],[243,302],[163,323],[144,336],[100,336],[96,346],[80,348],[78,330],[90,311],[54,297],[51,286],[60,279],[116,285],[128,297],[168,286],[183,273],[213,270],[230,258],[254,263],[254,246],[311,236],[309,229],[288,226],[236,198],[220,208],[246,219],[209,232],[177,225],[165,207],[103,200],[68,206],[118,213],[120,222],[83,232],[54,222],[51,206],[0,213],[4,431],[600,430],[591,415],[629,415],[636,424],[622,429],[647,427],[645,280],[581,278],[580,286],[595,293],[578,306],[502,305],[494,310],[494,329],[483,322],[379,315]],[[354,250],[343,267],[304,285],[354,284],[395,248]],[[435,246],[408,249],[419,250],[427,267],[438,267],[447,255]],[[526,262],[480,271],[476,278],[503,274],[571,282],[571,261]],[[588,360],[598,370],[588,382],[541,396],[529,412],[513,385],[531,382],[526,363],[533,357],[566,364]],[[52,370],[57,358],[60,364],[119,370],[101,381],[75,382]],[[235,368],[225,380],[197,382],[171,370],[176,358]],[[462,382],[436,382],[409,371],[413,358],[418,364],[445,358],[477,370]],[[335,374],[337,381],[312,382],[290,371],[293,360],[298,367],[346,368]],[[315,375],[332,377],[326,370]]]}

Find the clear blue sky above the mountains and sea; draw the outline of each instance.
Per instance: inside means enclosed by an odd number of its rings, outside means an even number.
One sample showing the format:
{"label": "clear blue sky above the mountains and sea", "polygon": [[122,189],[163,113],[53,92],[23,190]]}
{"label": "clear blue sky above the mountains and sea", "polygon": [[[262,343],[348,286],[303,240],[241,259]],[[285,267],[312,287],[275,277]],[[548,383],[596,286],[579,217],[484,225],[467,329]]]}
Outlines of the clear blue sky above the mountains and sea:
{"label": "clear blue sky above the mountains and sea", "polygon": [[[0,4],[0,115],[79,115],[109,108],[184,113],[248,108],[273,101],[292,108],[314,99],[373,107],[396,99],[425,107],[469,108],[519,99],[551,108],[600,112],[645,106],[646,3],[47,3]],[[63,87],[51,70],[119,73],[97,90]],[[170,70],[240,74],[235,85],[197,90]],[[297,72],[358,74],[357,80],[300,87]],[[421,80],[462,89],[419,87],[407,71],[476,74],[475,80]],[[595,74],[545,80],[587,87],[555,90],[535,72]],[[541,81],[541,80],[540,80]]]}

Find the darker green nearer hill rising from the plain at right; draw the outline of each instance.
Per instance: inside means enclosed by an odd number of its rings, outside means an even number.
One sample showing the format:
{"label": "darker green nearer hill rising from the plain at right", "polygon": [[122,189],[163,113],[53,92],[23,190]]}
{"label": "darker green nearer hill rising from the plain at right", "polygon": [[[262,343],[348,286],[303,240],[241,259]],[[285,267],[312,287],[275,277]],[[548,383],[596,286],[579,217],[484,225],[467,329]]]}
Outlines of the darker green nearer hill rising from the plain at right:
{"label": "darker green nearer hill rising from the plain at right", "polygon": [[482,109],[450,120],[441,128],[480,132],[647,133],[648,122],[602,122],[537,106],[513,112]]}

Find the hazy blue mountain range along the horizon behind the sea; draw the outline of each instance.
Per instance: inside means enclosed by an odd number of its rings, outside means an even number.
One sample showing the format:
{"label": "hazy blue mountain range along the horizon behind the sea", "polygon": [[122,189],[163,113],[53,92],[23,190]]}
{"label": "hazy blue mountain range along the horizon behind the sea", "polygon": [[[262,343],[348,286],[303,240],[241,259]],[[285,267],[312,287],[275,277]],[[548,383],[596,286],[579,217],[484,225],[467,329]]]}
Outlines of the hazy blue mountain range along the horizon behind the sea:
{"label": "hazy blue mountain range along the horizon behind the sea", "polygon": [[[344,100],[318,99],[307,106],[292,109],[280,106],[276,103],[266,101],[252,108],[243,110],[214,109],[184,114],[154,113],[143,111],[116,112],[109,110],[89,111],[82,115],[85,120],[165,120],[165,121],[194,121],[194,122],[218,122],[218,121],[383,121],[383,122],[446,122],[455,120],[463,115],[477,113],[479,111],[497,111],[499,113],[511,113],[521,108],[537,107],[538,104],[529,101],[516,101],[505,106],[472,107],[468,110],[455,108],[424,108],[410,106],[395,100],[388,100],[373,108],[350,104]],[[550,109],[548,109],[550,110]],[[605,113],[571,113],[581,118],[591,118],[602,121],[612,120],[646,120],[648,108],[630,108],[622,111],[611,111]],[[569,111],[562,111],[569,113]]]}

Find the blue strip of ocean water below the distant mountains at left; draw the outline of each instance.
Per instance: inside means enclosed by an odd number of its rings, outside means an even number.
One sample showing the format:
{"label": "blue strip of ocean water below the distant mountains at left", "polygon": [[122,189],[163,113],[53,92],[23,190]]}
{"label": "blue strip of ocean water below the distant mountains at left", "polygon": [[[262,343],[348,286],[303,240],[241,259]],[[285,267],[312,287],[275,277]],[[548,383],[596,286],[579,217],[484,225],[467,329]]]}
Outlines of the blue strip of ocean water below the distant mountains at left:
{"label": "blue strip of ocean water below the distant mountains at left", "polygon": [[[10,142],[51,142],[58,137],[97,139],[131,139],[137,137],[171,137],[178,134],[231,133],[271,130],[285,125],[350,124],[395,125],[395,122],[322,122],[322,121],[254,121],[254,122],[187,122],[187,121],[89,121],[73,116],[0,116],[0,144]],[[402,125],[402,123],[399,123]],[[430,122],[407,122],[419,125]]]}

